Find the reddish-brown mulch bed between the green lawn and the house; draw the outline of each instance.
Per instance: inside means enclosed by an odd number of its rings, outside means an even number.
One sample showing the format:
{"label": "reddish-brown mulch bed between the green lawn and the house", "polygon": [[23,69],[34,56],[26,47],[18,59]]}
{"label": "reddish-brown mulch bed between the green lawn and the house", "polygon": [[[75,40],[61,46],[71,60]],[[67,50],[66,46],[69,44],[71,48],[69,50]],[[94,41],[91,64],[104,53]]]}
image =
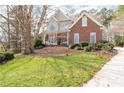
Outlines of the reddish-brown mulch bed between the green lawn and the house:
{"label": "reddish-brown mulch bed between the green lawn and the house", "polygon": [[[68,56],[68,55],[72,55],[72,54],[78,54],[84,52],[83,50],[74,50],[74,49],[70,49],[68,47],[64,47],[64,46],[47,46],[45,48],[42,49],[36,49],[34,51],[33,56],[43,56],[43,57],[56,57],[56,56]],[[85,52],[84,52],[85,53]],[[108,57],[113,57],[117,54],[116,50],[112,50],[112,51],[94,51],[92,52],[95,55],[99,56],[99,57],[103,57],[103,56],[108,56]],[[17,54],[16,56],[23,56],[22,54]]]}

